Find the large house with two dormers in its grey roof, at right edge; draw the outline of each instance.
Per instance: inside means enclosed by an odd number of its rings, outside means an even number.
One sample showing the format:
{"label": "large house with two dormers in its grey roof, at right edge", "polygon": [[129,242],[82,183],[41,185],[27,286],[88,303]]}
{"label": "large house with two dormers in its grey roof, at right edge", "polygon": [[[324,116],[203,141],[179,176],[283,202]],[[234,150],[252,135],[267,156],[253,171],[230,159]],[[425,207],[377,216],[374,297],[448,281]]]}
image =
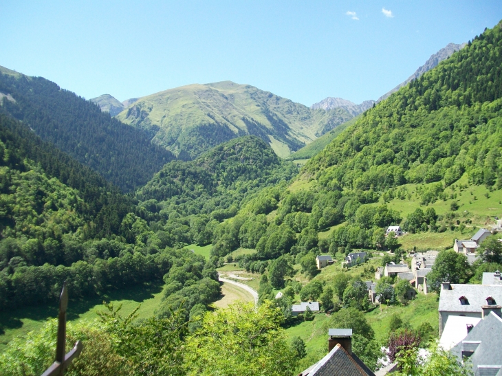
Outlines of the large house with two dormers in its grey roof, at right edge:
{"label": "large house with two dormers in its grey roof, at right edge", "polygon": [[439,289],[439,337],[449,316],[502,316],[502,285],[459,285],[444,282]]}

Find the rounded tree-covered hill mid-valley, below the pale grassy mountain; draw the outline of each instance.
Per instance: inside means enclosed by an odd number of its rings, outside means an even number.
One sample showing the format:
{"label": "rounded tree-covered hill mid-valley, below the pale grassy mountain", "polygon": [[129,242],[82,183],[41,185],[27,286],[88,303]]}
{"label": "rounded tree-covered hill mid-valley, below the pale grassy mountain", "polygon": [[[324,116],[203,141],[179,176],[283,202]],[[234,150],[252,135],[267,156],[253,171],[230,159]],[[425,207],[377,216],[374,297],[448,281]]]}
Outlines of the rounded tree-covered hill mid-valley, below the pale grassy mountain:
{"label": "rounded tree-covered hill mid-valley, below the pale grassy mountain", "polygon": [[[170,162],[138,190],[140,205],[157,213],[152,228],[168,245],[207,244],[224,219],[234,217],[265,187],[283,189],[298,170],[258,137],[245,136],[212,148],[191,162]],[[269,190],[272,188],[268,188]],[[263,212],[277,206],[270,199]]]}

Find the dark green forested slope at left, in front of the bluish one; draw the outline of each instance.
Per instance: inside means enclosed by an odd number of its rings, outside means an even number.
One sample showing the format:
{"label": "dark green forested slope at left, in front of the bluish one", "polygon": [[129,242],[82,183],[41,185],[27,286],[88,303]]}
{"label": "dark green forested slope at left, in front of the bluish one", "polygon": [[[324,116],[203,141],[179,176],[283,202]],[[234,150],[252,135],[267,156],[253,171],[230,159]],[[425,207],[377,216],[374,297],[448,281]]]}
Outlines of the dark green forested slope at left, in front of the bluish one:
{"label": "dark green forested slope at left, in front of the bluish one", "polygon": [[[204,258],[166,248],[150,230],[153,214],[2,114],[0,203],[0,310],[52,302],[64,280],[80,298],[162,280],[184,265],[192,270],[192,289],[199,281],[206,287],[197,287],[204,294],[192,305],[219,292]],[[189,293],[179,285],[168,296]]]}

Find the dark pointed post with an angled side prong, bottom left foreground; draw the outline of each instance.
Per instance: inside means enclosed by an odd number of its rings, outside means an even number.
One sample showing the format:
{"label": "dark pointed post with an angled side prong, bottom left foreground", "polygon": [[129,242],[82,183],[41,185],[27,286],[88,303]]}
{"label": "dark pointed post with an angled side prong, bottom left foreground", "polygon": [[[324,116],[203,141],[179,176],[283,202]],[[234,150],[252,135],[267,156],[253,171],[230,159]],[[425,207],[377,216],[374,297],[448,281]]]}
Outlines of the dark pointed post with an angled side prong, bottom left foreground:
{"label": "dark pointed post with an angled side prong, bottom left foreground", "polygon": [[59,298],[58,316],[58,342],[56,344],[56,362],[47,368],[42,376],[63,376],[65,369],[72,364],[74,358],[78,357],[84,348],[82,342],[77,341],[74,348],[65,355],[66,346],[66,309],[68,307],[68,291],[66,281],[63,283],[61,298]]}

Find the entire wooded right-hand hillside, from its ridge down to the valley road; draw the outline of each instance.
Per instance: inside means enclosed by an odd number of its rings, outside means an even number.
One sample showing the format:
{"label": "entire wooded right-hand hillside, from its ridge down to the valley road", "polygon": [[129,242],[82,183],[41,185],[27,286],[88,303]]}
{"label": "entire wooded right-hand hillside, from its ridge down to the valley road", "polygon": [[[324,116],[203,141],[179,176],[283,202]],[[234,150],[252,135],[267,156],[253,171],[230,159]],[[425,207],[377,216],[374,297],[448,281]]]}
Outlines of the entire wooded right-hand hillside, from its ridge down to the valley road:
{"label": "entire wooded right-hand hillside, from its ridge down to the valley road", "polygon": [[[213,256],[243,245],[249,228],[261,229],[245,243],[256,247],[256,257],[292,253],[297,261],[313,260],[319,249],[381,249],[391,224],[408,232],[457,231],[461,222],[466,228],[472,214],[457,212],[457,180],[466,177],[460,190],[502,188],[501,49],[497,25],[369,109],[312,158],[290,188],[272,188],[270,196],[264,191],[223,223],[212,240]],[[386,205],[411,195],[422,208],[406,217]],[[253,217],[263,213],[254,208],[276,198],[276,211]],[[437,200],[449,200],[451,210],[439,215],[432,205]],[[318,232],[340,223],[346,224],[319,240]]]}

